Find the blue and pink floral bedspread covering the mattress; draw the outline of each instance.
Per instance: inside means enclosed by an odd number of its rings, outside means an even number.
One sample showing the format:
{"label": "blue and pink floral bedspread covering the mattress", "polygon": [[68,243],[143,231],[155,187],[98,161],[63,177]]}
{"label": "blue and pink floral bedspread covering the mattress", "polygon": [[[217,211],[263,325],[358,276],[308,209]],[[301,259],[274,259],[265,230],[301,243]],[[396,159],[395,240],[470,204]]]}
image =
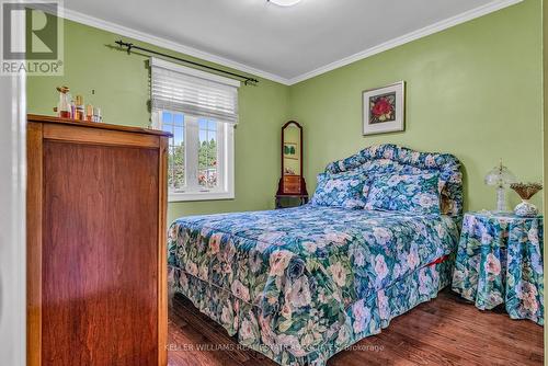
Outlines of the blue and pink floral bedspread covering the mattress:
{"label": "blue and pink floral bedspread covering the mattress", "polygon": [[[253,336],[302,357],[336,334],[357,301],[403,278],[421,282],[411,275],[457,242],[457,222],[444,215],[306,205],[180,218],[170,228],[169,264],[260,309],[262,334]],[[388,313],[407,311],[388,301]]]}

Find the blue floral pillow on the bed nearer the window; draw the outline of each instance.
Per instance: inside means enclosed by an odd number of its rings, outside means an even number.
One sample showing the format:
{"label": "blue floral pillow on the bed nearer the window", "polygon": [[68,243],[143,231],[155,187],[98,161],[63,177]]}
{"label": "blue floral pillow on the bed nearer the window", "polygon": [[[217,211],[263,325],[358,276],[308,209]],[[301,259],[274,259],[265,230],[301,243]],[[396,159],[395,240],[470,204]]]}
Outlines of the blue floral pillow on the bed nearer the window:
{"label": "blue floral pillow on the bed nearer the window", "polygon": [[364,208],[367,195],[367,176],[353,171],[339,174],[321,173],[311,204],[343,208]]}

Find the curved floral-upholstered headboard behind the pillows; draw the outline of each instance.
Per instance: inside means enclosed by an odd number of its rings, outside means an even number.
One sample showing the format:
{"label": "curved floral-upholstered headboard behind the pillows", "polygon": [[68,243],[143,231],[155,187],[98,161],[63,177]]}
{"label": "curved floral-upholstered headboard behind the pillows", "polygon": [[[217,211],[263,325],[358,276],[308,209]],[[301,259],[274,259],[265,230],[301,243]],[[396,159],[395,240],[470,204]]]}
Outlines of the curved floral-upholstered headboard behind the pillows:
{"label": "curved floral-upholstered headboard behind the pillows", "polygon": [[363,169],[372,174],[418,174],[438,172],[443,183],[442,213],[463,215],[463,173],[460,161],[450,153],[420,152],[397,145],[370,146],[342,160],[331,162],[327,173]]}

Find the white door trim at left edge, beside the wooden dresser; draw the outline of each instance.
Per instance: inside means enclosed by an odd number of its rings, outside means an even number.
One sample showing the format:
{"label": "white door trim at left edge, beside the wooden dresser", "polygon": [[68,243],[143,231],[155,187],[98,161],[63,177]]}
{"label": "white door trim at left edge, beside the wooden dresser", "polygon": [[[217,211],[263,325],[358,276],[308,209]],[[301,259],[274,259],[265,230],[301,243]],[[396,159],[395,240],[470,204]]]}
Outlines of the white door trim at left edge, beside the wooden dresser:
{"label": "white door trim at left edge, beside the wooden dresser", "polygon": [[0,359],[5,365],[23,366],[26,365],[24,72],[0,77]]}

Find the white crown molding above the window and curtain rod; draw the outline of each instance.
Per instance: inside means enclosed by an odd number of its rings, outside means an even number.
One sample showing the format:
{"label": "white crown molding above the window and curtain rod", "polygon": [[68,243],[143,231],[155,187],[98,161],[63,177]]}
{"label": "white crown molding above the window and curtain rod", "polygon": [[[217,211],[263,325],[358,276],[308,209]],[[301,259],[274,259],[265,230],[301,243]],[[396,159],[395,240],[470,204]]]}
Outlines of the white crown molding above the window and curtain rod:
{"label": "white crown molding above the window and curtain rod", "polygon": [[183,44],[178,43],[178,42],[173,42],[170,39],[158,37],[158,36],[145,33],[145,32],[140,32],[140,31],[127,27],[127,26],[118,25],[118,24],[115,24],[115,23],[112,23],[109,21],[104,21],[104,20],[99,19],[99,18],[90,16],[90,15],[67,9],[67,8],[64,9],[61,16],[64,19],[67,19],[67,20],[73,21],[73,22],[90,25],[90,26],[93,26],[93,27],[96,27],[96,28],[100,28],[103,31],[118,34],[121,36],[129,37],[129,38],[133,38],[136,41],[149,43],[151,45],[163,47],[163,48],[174,50],[174,52],[178,52],[178,53],[181,53],[184,55],[189,55],[192,57],[196,57],[196,58],[203,59],[205,61],[214,62],[214,64],[217,64],[220,66],[229,67],[229,68],[238,70],[238,71],[247,72],[247,73],[250,73],[250,75],[255,76],[255,77],[269,79],[269,80],[285,84],[285,85],[288,84],[288,79],[279,77],[279,76],[274,75],[272,72],[263,71],[263,70],[256,69],[254,67],[247,66],[247,65],[240,64],[238,61],[233,61],[231,59],[228,59],[228,58],[225,58],[221,56],[217,56],[214,54],[209,54],[209,53],[199,50],[199,49],[194,48],[194,47],[183,45]]}

